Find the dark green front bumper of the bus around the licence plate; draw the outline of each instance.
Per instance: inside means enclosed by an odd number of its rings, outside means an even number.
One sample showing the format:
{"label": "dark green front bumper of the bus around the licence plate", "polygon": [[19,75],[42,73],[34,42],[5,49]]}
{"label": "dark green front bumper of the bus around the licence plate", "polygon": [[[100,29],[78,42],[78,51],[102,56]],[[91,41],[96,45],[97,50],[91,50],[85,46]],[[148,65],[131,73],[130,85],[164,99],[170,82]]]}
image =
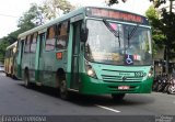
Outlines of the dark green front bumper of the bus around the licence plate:
{"label": "dark green front bumper of the bus around the licence plate", "polygon": [[[101,79],[81,75],[80,93],[84,95],[107,95],[107,93],[150,93],[152,91],[153,78],[140,82],[105,82]],[[118,89],[119,86],[127,86],[129,89]]]}

